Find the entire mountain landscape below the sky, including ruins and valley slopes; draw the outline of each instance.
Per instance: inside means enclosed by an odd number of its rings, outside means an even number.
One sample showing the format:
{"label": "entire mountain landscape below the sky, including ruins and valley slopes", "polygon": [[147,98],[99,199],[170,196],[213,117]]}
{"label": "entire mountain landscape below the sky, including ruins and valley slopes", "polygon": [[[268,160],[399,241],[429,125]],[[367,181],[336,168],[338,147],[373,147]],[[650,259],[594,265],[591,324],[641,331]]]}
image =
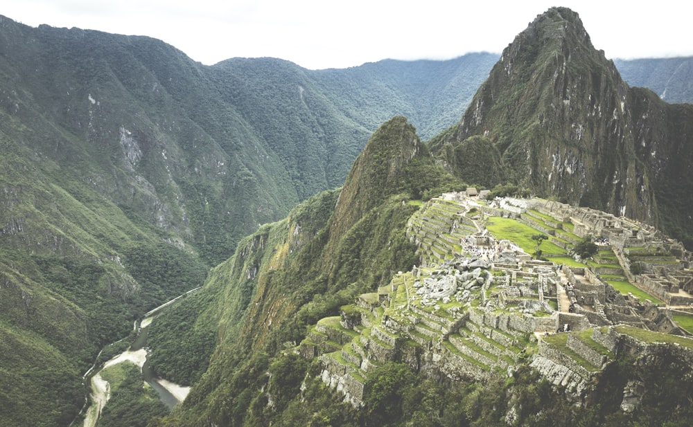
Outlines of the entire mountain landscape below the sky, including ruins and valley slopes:
{"label": "entire mountain landscape below the sky, including ruins and valley slopes", "polygon": [[103,427],[689,425],[690,58],[598,47],[551,8],[500,56],[204,66],[0,17],[0,427],[119,354]]}

